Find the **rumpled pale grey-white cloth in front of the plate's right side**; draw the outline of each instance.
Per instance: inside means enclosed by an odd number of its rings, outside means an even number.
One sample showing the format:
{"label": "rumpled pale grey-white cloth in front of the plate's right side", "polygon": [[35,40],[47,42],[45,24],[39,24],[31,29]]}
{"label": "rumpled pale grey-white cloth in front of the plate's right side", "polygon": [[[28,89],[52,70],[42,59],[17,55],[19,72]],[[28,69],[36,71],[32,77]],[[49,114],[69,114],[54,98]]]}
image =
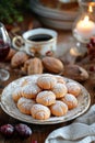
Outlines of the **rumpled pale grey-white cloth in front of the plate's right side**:
{"label": "rumpled pale grey-white cloth in front of the plate's right side", "polygon": [[52,131],[45,143],[92,143],[95,141],[95,105],[70,125]]}

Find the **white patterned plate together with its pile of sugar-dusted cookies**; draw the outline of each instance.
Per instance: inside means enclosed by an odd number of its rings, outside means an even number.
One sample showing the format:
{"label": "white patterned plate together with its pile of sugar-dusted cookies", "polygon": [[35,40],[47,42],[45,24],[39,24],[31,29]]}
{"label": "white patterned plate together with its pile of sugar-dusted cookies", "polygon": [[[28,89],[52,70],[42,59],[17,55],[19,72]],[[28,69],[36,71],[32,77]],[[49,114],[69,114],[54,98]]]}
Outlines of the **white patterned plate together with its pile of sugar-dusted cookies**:
{"label": "white patterned plate together with its pile of sugar-dusted cookies", "polygon": [[2,91],[1,108],[9,116],[35,124],[67,122],[90,107],[88,91],[79,82],[51,74],[19,78]]}

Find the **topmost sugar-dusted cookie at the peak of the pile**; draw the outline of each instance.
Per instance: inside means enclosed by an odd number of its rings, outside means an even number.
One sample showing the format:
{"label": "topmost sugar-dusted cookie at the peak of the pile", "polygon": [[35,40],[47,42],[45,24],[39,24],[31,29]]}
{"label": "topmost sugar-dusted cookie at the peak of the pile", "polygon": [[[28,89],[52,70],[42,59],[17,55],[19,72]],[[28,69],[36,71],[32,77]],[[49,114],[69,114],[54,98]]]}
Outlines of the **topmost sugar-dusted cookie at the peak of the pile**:
{"label": "topmost sugar-dusted cookie at the peak of the pile", "polygon": [[56,77],[51,75],[43,75],[37,79],[37,85],[41,89],[51,89],[57,84]]}

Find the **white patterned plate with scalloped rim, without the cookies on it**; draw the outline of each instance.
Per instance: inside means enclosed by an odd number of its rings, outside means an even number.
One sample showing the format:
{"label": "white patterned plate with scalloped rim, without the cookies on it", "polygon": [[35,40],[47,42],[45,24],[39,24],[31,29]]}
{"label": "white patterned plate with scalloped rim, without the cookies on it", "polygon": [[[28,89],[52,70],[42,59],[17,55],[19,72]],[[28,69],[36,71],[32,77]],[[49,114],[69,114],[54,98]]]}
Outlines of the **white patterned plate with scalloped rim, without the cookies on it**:
{"label": "white patterned plate with scalloped rim, without the cookies on it", "polygon": [[[87,90],[82,86],[81,86],[81,95],[78,98],[79,105],[76,108],[74,108],[71,111],[68,111],[68,113],[63,117],[51,117],[48,120],[35,120],[33,119],[31,116],[25,116],[23,113],[21,113],[19,111],[19,109],[16,108],[16,105],[14,103],[13,99],[12,99],[12,92],[14,90],[14,88],[16,86],[21,86],[22,81],[26,78],[31,78],[31,80],[36,80],[40,75],[33,75],[33,76],[26,76],[20,79],[16,79],[14,81],[12,81],[11,84],[9,84],[2,92],[1,96],[1,108],[3,109],[3,111],[5,113],[8,113],[9,116],[27,122],[27,123],[35,123],[35,124],[55,124],[55,123],[61,123],[61,122],[67,122],[70,121],[72,119],[75,119],[76,117],[83,114],[90,107],[91,103],[91,97],[90,94],[87,92]],[[66,81],[72,81],[71,79],[64,78]],[[74,81],[74,80],[73,80]]]}

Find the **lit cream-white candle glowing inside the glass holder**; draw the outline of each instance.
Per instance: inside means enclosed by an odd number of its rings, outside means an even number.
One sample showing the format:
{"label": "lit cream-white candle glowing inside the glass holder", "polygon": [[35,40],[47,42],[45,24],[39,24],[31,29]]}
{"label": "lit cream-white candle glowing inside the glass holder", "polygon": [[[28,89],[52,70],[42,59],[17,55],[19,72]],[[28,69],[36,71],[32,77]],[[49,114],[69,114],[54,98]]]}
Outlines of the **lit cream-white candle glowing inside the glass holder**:
{"label": "lit cream-white candle glowing inside the glass holder", "polygon": [[90,38],[95,34],[95,23],[86,15],[84,20],[79,21],[76,24],[76,31],[80,36]]}

